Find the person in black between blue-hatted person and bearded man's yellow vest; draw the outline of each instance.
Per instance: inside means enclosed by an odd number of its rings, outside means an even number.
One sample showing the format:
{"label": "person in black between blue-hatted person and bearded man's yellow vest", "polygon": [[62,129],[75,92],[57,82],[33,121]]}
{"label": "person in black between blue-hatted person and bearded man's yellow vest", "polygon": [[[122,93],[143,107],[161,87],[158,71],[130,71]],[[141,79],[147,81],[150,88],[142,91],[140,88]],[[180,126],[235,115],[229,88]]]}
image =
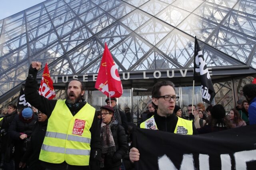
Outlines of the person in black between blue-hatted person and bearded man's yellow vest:
{"label": "person in black between blue-hatted person and bearded man's yellow vest", "polygon": [[35,128],[30,137],[30,145],[21,159],[20,166],[28,165],[28,170],[45,170],[41,166],[39,160],[41,146],[44,141],[44,136],[47,128],[48,117],[41,111],[38,111],[38,121],[35,123]]}

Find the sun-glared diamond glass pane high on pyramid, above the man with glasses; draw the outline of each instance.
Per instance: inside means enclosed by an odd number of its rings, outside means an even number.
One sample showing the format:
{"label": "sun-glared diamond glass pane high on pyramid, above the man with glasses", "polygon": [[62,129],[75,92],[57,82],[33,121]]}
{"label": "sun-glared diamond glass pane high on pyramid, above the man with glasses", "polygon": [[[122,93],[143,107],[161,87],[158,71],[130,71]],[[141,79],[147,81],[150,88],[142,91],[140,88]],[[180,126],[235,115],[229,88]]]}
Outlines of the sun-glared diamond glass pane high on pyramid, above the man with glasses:
{"label": "sun-glared diamond glass pane high on pyramid, above the man with glasses", "polygon": [[178,26],[189,14],[185,10],[170,5],[159,12],[156,17],[172,26]]}

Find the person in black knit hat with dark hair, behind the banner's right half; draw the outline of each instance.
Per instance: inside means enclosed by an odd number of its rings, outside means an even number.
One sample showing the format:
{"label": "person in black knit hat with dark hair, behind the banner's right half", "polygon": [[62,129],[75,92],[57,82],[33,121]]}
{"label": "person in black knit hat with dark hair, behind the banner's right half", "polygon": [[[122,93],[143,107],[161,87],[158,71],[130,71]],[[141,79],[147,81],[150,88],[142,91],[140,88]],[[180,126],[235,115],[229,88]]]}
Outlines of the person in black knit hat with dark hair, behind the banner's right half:
{"label": "person in black knit hat with dark hair, behind the banner's right half", "polygon": [[208,125],[204,125],[202,128],[198,128],[198,134],[218,132],[221,130],[226,130],[232,128],[233,125],[226,117],[226,111],[224,107],[220,104],[212,107],[211,117],[208,120]]}

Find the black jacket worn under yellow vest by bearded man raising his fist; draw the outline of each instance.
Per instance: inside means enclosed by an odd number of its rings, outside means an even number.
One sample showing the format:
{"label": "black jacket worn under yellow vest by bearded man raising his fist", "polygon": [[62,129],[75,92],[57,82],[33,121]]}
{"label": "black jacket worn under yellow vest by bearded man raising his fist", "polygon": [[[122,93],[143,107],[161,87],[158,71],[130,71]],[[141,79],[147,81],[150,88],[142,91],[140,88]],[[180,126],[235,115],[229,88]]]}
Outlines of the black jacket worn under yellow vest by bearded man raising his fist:
{"label": "black jacket worn under yellow vest by bearded man raising his fist", "polygon": [[[57,100],[48,100],[45,97],[39,95],[38,86],[36,81],[37,70],[30,66],[28,71],[28,77],[25,83],[25,98],[32,106],[36,107],[42,113],[46,114],[48,118],[52,114],[52,111],[56,105]],[[66,103],[67,104],[67,103]],[[75,115],[85,104],[85,101],[77,103],[79,107],[72,105],[68,107],[70,112]],[[59,120],[58,120],[59,121]],[[98,126],[97,115],[95,113],[92,126],[90,128],[91,132],[91,153],[90,153],[90,167],[89,166],[71,166],[65,161],[61,164],[52,164],[48,162],[42,162],[43,166],[52,170],[98,170],[100,168],[100,155],[101,148],[100,145],[100,128]]]}

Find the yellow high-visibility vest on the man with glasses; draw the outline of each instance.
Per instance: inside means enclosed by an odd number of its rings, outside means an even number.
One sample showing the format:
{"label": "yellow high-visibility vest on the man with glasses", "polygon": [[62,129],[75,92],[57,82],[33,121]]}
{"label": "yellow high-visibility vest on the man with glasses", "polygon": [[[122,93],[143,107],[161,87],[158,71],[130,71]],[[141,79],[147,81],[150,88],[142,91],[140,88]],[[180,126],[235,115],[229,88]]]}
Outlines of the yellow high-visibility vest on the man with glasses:
{"label": "yellow high-visibility vest on the man with glasses", "polygon": [[[178,116],[177,116],[178,117]],[[140,124],[140,128],[148,128],[153,130],[158,130],[157,125],[154,120],[154,115]],[[174,133],[176,134],[193,134],[192,121],[182,119],[178,117],[178,122],[176,124]]]}

